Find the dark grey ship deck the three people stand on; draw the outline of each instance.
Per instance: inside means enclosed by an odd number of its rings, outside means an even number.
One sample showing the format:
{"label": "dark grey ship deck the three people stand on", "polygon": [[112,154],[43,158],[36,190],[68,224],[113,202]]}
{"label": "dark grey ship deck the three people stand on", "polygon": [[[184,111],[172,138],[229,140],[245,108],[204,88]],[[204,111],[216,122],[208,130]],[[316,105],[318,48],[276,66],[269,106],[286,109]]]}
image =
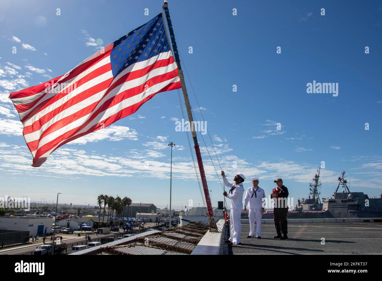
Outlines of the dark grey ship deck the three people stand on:
{"label": "dark grey ship deck the three people stand on", "polygon": [[[224,254],[373,255],[382,253],[382,223],[288,224],[289,239],[287,240],[273,239],[276,235],[274,224],[262,224],[262,239],[246,238],[248,234],[249,224],[242,224],[241,245],[225,244]],[[325,239],[325,244],[321,244],[322,238]]]}

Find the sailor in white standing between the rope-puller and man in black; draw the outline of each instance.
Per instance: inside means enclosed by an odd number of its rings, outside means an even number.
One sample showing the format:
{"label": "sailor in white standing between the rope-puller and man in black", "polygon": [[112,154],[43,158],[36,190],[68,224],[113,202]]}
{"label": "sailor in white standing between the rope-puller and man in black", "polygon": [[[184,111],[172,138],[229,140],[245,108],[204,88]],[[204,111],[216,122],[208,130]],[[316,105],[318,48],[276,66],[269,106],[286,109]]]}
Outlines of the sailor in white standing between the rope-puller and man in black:
{"label": "sailor in white standing between the rope-puller and man in black", "polygon": [[265,192],[259,187],[259,178],[252,178],[252,186],[249,187],[244,197],[244,211],[249,208],[249,235],[247,238],[255,236],[255,220],[256,220],[256,237],[261,238],[261,217],[264,213]]}

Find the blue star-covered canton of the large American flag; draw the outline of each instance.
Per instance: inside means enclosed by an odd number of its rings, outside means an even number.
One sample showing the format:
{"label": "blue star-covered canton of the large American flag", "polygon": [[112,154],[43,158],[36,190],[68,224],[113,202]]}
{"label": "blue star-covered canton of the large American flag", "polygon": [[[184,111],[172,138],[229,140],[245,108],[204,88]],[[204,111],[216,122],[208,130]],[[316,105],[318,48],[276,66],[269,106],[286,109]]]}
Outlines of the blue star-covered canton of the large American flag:
{"label": "blue star-covered canton of the large American flag", "polygon": [[147,60],[169,50],[162,14],[159,14],[114,42],[110,54],[113,76],[117,76],[135,62]]}

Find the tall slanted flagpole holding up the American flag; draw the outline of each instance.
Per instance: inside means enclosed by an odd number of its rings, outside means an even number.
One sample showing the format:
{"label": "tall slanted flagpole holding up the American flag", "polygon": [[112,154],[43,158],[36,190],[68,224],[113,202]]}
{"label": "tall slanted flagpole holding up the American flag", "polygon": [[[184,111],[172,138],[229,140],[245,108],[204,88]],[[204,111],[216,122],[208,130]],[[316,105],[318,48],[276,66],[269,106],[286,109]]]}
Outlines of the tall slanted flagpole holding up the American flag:
{"label": "tall slanted flagpole holding up the American flag", "polygon": [[[180,83],[181,83],[181,86],[182,86],[182,93],[183,93],[183,98],[185,100],[185,106],[186,106],[188,121],[191,124],[191,136],[192,136],[192,138],[194,140],[194,148],[195,148],[195,154],[196,154],[196,159],[197,159],[197,165],[199,166],[199,173],[200,173],[200,177],[201,177],[201,180],[202,180],[204,197],[206,198],[206,205],[207,205],[207,210],[208,210],[208,215],[209,215],[209,223],[210,223],[210,231],[218,231],[216,223],[215,223],[215,220],[214,220],[214,211],[212,210],[212,204],[211,204],[211,199],[210,199],[210,195],[209,195],[209,189],[208,189],[208,186],[207,186],[206,174],[204,172],[202,156],[201,156],[201,153],[200,153],[199,144],[197,142],[196,131],[194,129],[195,126],[193,126],[194,119],[193,119],[192,112],[191,112],[191,105],[190,105],[190,102],[189,102],[189,99],[188,99],[186,83],[185,83],[185,76],[183,75],[183,71],[182,71],[182,68],[180,66],[180,58],[179,58],[179,54],[178,54],[178,47],[176,46],[175,35],[174,35],[173,28],[172,28],[170,13],[168,11],[168,4],[167,4],[166,0],[163,3],[162,8],[163,8],[163,11],[164,11],[164,15],[162,13],[163,22],[166,19],[167,27],[168,27],[168,32],[170,33],[170,38],[168,38],[168,42],[169,43],[172,42],[172,48],[174,50],[173,55],[175,57],[176,65],[178,66],[178,75],[179,75]],[[170,41],[170,39],[171,39],[171,41]]]}

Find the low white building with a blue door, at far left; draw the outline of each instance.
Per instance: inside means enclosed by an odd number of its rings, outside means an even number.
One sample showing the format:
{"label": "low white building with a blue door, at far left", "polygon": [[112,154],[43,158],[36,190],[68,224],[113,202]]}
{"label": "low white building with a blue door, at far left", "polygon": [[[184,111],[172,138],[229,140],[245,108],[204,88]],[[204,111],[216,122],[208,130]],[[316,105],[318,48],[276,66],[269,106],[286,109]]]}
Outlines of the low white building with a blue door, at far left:
{"label": "low white building with a blue door, at far left", "polygon": [[52,218],[1,216],[0,229],[29,231],[29,236],[52,232]]}

